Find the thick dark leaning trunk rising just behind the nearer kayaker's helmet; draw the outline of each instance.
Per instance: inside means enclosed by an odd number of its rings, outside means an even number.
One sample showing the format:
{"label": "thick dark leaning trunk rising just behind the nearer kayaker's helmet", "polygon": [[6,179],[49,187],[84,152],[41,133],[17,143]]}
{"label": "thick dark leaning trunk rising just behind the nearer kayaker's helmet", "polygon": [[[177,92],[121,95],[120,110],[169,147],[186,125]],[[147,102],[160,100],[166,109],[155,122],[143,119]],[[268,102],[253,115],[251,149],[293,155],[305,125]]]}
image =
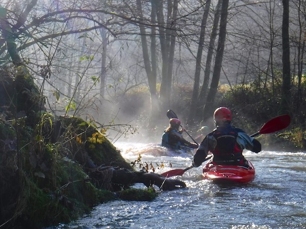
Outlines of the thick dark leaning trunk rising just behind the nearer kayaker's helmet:
{"label": "thick dark leaning trunk rising just behind the nearer kayaker's helmet", "polygon": [[223,0],[221,8],[220,32],[219,32],[219,40],[216,52],[214,72],[213,72],[211,87],[207,96],[207,101],[203,109],[204,119],[211,117],[213,109],[215,108],[214,101],[218,90],[220,72],[222,67],[225,36],[226,36],[227,8],[228,8],[228,0]]}

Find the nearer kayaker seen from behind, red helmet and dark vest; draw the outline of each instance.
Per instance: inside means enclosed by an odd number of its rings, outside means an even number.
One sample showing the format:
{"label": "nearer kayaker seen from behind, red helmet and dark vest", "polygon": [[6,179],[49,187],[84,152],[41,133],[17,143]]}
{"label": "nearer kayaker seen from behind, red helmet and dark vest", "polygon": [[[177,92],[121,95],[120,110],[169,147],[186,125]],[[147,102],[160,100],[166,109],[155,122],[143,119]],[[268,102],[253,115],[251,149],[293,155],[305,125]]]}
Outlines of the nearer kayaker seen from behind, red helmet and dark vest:
{"label": "nearer kayaker seen from behind, red helmet and dark vest", "polygon": [[242,129],[231,125],[232,112],[227,107],[219,107],[214,112],[216,129],[209,133],[201,142],[193,156],[192,165],[198,167],[211,152],[217,164],[242,165],[248,167],[242,155],[243,149],[258,153],[260,142],[247,135]]}

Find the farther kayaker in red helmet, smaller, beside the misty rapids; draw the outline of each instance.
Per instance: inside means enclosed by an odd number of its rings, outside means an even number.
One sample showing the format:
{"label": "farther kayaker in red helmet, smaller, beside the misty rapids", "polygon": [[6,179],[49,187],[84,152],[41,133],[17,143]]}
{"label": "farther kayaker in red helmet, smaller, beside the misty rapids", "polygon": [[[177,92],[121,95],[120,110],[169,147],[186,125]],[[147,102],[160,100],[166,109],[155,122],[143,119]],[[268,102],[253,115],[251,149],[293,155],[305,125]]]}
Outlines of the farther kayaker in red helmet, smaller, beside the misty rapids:
{"label": "farther kayaker in red helmet, smaller, beside the misty rapids", "polygon": [[196,149],[197,144],[186,140],[182,133],[186,131],[183,127],[180,130],[181,121],[179,119],[172,118],[169,122],[169,127],[164,131],[162,136],[162,146],[171,148],[173,150],[181,149],[182,146]]}

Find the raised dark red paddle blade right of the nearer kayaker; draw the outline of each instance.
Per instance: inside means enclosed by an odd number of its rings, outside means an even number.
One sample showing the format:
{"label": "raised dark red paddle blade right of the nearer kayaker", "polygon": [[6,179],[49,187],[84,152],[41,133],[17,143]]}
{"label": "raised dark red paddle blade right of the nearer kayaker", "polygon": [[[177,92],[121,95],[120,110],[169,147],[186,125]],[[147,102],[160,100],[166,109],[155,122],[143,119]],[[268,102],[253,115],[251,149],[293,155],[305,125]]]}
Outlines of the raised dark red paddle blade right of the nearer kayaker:
{"label": "raised dark red paddle blade right of the nearer kayaker", "polygon": [[263,127],[260,129],[260,134],[266,134],[266,133],[273,133],[282,129],[285,129],[290,124],[290,116],[289,115],[282,115],[277,116],[274,119],[271,119],[269,122],[267,122]]}

